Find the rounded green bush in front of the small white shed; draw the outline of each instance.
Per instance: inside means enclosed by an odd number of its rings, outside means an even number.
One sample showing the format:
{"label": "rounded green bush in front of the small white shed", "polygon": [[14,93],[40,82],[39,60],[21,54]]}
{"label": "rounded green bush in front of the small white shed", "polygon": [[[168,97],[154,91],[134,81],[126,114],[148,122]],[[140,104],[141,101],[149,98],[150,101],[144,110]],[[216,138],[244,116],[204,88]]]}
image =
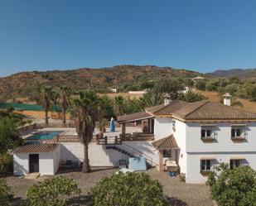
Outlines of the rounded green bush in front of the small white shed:
{"label": "rounded green bush in front of the small white shed", "polygon": [[80,194],[78,184],[65,176],[31,185],[27,190],[27,206],[66,205],[70,195]]}

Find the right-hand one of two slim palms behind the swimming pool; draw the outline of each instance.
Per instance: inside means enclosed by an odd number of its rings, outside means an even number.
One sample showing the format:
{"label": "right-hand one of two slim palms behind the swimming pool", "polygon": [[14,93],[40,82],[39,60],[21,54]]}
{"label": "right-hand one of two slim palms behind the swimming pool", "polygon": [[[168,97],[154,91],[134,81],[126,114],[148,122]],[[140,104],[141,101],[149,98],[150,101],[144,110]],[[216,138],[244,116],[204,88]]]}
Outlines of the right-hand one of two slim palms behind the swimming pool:
{"label": "right-hand one of two slim palms behind the swimming pool", "polygon": [[58,102],[60,103],[60,106],[62,108],[62,122],[65,124],[65,113],[68,107],[70,106],[70,88],[68,88],[67,86],[60,86]]}

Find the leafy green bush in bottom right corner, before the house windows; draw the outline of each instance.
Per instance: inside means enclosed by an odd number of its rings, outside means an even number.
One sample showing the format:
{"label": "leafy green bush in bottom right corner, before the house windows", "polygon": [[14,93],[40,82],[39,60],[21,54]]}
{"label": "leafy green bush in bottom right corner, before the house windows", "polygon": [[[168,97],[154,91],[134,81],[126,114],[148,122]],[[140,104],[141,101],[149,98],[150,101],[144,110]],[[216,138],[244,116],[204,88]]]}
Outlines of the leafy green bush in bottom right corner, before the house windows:
{"label": "leafy green bush in bottom right corner, before the house windows", "polygon": [[256,172],[249,166],[229,169],[229,165],[217,167],[217,173],[211,173],[207,184],[210,195],[219,206],[250,206],[256,200]]}

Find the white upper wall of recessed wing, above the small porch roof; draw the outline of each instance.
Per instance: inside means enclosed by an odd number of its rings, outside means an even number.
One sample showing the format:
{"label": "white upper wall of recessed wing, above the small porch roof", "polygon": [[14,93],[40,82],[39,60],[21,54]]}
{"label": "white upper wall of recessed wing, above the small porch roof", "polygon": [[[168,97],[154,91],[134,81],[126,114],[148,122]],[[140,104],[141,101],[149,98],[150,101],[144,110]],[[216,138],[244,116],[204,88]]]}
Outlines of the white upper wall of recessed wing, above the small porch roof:
{"label": "white upper wall of recessed wing, above the small porch roof", "polygon": [[170,136],[171,133],[172,133],[171,118],[155,117],[155,124],[154,124],[155,140],[159,140],[163,137]]}

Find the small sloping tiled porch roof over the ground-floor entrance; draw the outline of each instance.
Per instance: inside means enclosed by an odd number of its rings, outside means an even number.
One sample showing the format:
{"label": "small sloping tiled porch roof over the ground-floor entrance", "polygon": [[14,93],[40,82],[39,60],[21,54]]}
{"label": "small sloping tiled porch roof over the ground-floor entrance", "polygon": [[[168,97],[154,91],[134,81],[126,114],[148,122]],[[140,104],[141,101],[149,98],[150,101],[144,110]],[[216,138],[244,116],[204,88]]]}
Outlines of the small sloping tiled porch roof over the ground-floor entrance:
{"label": "small sloping tiled porch roof over the ground-floor entrance", "polygon": [[172,134],[169,137],[164,137],[160,140],[153,141],[152,146],[154,146],[157,150],[180,149]]}

